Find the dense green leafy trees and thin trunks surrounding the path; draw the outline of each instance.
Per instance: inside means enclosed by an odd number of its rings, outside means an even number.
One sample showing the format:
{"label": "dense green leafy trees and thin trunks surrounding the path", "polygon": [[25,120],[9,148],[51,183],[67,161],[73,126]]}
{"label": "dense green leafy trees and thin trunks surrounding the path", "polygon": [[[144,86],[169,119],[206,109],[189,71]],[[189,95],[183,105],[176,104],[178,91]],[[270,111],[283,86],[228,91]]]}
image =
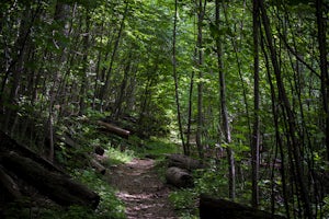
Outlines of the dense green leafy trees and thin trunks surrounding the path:
{"label": "dense green leafy trees and thin trunks surrounding the path", "polygon": [[66,162],[56,136],[98,143],[80,123],[131,118],[139,138],[171,135],[209,164],[184,193],[326,218],[328,9],[324,0],[1,1],[1,129]]}

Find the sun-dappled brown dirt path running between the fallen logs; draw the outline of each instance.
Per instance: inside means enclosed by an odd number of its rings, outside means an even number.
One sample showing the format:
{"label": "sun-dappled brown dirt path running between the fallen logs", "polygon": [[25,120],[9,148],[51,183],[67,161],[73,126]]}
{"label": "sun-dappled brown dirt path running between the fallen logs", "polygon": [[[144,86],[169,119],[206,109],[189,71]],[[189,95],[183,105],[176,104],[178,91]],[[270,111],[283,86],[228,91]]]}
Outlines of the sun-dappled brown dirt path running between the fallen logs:
{"label": "sun-dappled brown dirt path running between the fallen logs", "polygon": [[151,159],[134,159],[111,168],[111,184],[125,203],[126,216],[132,218],[178,218],[169,203],[169,188],[160,181]]}

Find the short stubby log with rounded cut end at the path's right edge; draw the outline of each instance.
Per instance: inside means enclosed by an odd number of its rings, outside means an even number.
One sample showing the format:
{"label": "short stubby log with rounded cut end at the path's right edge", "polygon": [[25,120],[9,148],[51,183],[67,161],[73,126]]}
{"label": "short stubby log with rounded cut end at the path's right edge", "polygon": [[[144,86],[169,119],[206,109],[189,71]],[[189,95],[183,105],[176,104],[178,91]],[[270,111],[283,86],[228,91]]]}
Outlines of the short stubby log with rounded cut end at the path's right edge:
{"label": "short stubby log with rounded cut end at the path's right edge", "polygon": [[169,168],[166,172],[167,183],[174,185],[175,187],[192,187],[193,177],[192,175],[180,168]]}

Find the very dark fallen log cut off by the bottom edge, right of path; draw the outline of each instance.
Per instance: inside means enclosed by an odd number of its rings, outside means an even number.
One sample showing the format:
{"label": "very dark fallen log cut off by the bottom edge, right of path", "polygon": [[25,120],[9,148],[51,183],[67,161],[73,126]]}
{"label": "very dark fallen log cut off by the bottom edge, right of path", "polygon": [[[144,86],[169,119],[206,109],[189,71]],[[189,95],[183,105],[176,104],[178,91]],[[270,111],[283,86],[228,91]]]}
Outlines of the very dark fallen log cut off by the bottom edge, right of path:
{"label": "very dark fallen log cut off by the bottom edge, right of path", "polygon": [[284,219],[282,216],[206,195],[201,195],[198,208],[201,219]]}

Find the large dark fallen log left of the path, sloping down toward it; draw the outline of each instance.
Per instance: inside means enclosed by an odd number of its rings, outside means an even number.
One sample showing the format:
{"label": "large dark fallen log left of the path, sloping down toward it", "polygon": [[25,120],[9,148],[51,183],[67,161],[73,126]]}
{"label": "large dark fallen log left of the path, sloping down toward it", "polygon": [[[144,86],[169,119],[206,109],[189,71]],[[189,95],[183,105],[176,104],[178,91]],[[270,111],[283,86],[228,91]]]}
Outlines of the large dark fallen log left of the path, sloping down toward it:
{"label": "large dark fallen log left of the path, sloping down toward it", "polygon": [[10,151],[1,154],[0,162],[3,168],[61,206],[81,205],[95,209],[99,205],[98,194],[67,175],[48,171],[30,158]]}

